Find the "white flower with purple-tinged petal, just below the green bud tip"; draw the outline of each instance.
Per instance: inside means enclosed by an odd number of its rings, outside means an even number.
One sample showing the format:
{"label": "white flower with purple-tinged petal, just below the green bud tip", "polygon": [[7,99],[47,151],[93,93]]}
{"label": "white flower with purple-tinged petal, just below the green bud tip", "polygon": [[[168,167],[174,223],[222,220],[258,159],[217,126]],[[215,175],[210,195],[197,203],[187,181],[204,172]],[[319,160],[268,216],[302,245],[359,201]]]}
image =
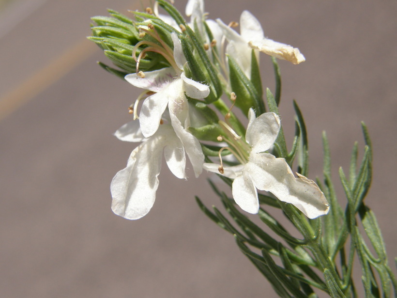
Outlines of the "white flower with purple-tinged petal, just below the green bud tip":
{"label": "white flower with purple-tinged petal, just below the green bud tip", "polygon": [[[132,85],[154,92],[155,94],[145,99],[139,113],[139,123],[142,134],[148,138],[152,136],[160,125],[164,111],[172,105],[181,105],[187,102],[185,93],[192,98],[205,98],[210,94],[207,85],[186,78],[183,64],[186,59],[183,55],[181,42],[176,33],[171,34],[174,42],[174,60],[177,67],[167,67],[144,73],[144,77],[129,74],[125,79]],[[174,113],[170,109],[170,116]],[[171,116],[171,121],[172,121]],[[181,119],[181,122],[184,122]]]}

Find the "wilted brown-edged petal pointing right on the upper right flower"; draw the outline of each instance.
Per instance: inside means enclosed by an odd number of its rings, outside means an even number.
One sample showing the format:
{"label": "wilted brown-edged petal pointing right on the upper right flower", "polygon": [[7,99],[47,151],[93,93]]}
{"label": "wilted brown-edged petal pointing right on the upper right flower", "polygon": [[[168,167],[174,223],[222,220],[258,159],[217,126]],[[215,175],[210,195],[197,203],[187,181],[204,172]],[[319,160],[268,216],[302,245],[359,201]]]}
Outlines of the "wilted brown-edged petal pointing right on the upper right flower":
{"label": "wilted brown-edged petal pointing right on the upper right flower", "polygon": [[248,44],[253,49],[260,50],[265,54],[281,60],[287,60],[293,64],[299,64],[305,61],[305,57],[301,54],[298,48],[276,42],[272,39],[255,39],[251,40]]}

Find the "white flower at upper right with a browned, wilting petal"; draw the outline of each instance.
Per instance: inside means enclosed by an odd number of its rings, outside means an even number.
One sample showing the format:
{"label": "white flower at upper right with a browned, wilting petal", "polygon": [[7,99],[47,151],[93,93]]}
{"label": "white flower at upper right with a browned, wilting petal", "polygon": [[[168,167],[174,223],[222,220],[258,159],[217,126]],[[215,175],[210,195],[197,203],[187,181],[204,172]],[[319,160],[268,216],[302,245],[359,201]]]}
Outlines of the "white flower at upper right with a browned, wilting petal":
{"label": "white flower at upper right with a browned, wilting petal", "polygon": [[221,20],[218,19],[217,21],[223,29],[229,44],[231,44],[231,46],[228,46],[230,47],[228,53],[235,59],[240,59],[240,64],[245,65],[247,68],[251,64],[250,48],[260,50],[278,59],[290,61],[293,64],[305,61],[305,57],[298,48],[265,37],[258,19],[246,10],[240,16],[240,35],[226,26]]}

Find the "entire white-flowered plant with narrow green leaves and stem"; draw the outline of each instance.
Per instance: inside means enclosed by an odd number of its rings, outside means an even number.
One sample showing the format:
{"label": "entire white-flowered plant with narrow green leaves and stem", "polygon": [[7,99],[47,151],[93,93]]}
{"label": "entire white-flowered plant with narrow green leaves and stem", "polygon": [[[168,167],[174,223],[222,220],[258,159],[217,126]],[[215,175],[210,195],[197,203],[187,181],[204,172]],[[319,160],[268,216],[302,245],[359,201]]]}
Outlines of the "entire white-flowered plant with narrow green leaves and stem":
{"label": "entire white-flowered plant with narrow green leaves and stem", "polygon": [[[168,15],[159,14],[159,7]],[[180,179],[186,178],[187,155],[196,177],[204,169],[231,188],[229,197],[210,180],[231,219],[215,207],[211,211],[199,198],[197,203],[234,236],[280,297],[317,297],[315,288],[332,297],[357,297],[352,277],[355,254],[367,297],[379,297],[381,292],[389,297],[396,279],[387,265],[375,216],[364,203],[372,162],[366,126],[362,125],[366,147],[361,165],[357,165],[355,145],[349,178],[340,170],[348,199],[344,210],[330,177],[325,134],[325,183],[306,177],[307,135],[296,102],[295,138],[287,149],[278,110],[277,59],[302,63],[305,57],[299,49],[266,38],[248,11],[241,15],[240,33],[233,29],[237,23],[207,19],[203,0],[188,1],[190,22],[165,0],[156,0],[145,12],[132,13],[135,20],[112,10],[111,17],[93,17],[96,24],[89,37],[118,67],[99,63],[104,69],[144,90],[129,107],[134,120],[115,133],[122,141],[139,144],[111,182],[113,212],[129,220],[145,216],[155,201],[162,155]],[[273,61],[275,95],[269,89],[263,94],[260,52]],[[237,109],[247,117],[246,128]],[[296,175],[291,170],[295,157],[299,157]],[[281,209],[301,237],[292,236],[271,215],[272,208]],[[256,214],[279,239],[268,235],[249,214]],[[359,220],[376,256],[358,228]],[[348,239],[349,248],[345,247]],[[276,265],[274,257],[281,259],[282,266]]]}

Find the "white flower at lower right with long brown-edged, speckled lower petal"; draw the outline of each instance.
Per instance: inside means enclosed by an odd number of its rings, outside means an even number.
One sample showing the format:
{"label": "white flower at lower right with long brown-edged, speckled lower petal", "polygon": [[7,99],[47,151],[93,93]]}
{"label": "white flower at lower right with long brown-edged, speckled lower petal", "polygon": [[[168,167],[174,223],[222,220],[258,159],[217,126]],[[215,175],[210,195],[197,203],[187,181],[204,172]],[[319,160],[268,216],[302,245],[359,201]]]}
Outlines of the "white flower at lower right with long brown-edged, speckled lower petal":
{"label": "white flower at lower right with long brown-edged, speckled lower petal", "polygon": [[[280,120],[275,113],[264,113],[255,118],[254,110],[249,110],[245,135],[251,146],[248,161],[244,165],[224,167],[223,175],[234,179],[234,200],[244,211],[258,213],[258,188],[270,191],[280,201],[293,204],[308,218],[327,214],[329,205],[315,182],[300,174],[295,178],[284,158],[265,153],[275,142],[279,129]],[[212,163],[203,165],[204,169],[214,173],[219,173],[218,167]]]}

